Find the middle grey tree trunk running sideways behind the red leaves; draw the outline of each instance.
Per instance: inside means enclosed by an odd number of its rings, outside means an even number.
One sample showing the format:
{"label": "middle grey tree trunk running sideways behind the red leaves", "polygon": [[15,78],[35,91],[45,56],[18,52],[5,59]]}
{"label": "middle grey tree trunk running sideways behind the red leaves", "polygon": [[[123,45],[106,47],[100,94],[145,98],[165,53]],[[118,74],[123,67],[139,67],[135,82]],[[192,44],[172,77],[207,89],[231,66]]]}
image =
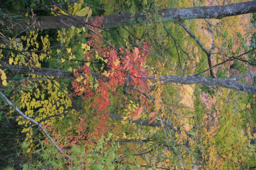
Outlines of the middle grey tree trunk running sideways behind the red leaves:
{"label": "middle grey tree trunk running sideways behind the red leaves", "polygon": [[[75,79],[74,75],[70,71],[49,69],[49,68],[35,68],[28,66],[9,65],[4,64],[0,66],[1,69],[11,69],[14,72],[30,73],[36,75],[47,75],[55,78],[70,78]],[[40,70],[39,70],[40,69]],[[44,73],[43,73],[44,72]],[[99,75],[94,74],[93,77],[99,79]],[[253,74],[253,76],[255,76]],[[105,78],[105,77],[102,77]],[[153,77],[152,77],[153,78]],[[106,78],[107,79],[107,78]],[[192,76],[160,76],[160,79],[166,83],[179,83],[179,84],[203,84],[209,86],[219,86],[232,90],[239,90],[243,92],[256,93],[256,87],[244,83],[239,83],[236,78],[206,78],[206,77],[192,77]]]}

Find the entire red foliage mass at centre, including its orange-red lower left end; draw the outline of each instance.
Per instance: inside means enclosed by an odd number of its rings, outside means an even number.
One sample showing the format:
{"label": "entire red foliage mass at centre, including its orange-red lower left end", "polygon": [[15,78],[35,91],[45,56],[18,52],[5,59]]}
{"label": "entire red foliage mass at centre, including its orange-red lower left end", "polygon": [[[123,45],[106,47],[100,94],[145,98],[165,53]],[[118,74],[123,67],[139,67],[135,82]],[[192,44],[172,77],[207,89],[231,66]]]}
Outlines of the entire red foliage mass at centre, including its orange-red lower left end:
{"label": "entire red foliage mass at centre, including its orange-red lower left end", "polygon": [[[102,18],[98,18],[93,24],[99,26],[101,22]],[[80,122],[75,125],[70,122],[70,127],[66,131],[68,137],[64,138],[67,143],[74,145],[79,145],[80,142],[83,142],[84,144],[96,144],[98,139],[106,134],[109,114],[108,107],[111,104],[110,95],[115,94],[118,86],[124,86],[125,83],[129,83],[129,85],[140,89],[141,92],[146,91],[146,88],[143,88],[143,86],[146,86],[146,77],[148,75],[144,70],[144,65],[148,53],[137,47],[132,49],[129,47],[120,47],[119,49],[116,49],[110,42],[108,42],[108,45],[105,45],[100,38],[102,37],[102,34],[99,33],[96,28],[91,28],[98,34],[96,35],[90,31],[86,36],[88,38],[87,43],[91,50],[85,52],[84,60],[86,62],[89,60],[91,64],[88,67],[86,63],[84,63],[82,67],[79,67],[75,71],[74,76],[77,79],[72,83],[72,88],[74,89],[72,96],[80,96],[82,100],[86,100],[87,103],[90,103],[90,108],[93,109],[93,115],[90,115],[93,119],[93,128],[85,124],[85,121],[88,122],[89,116],[84,116],[83,118],[80,117]],[[143,48],[149,50],[148,44],[144,43]],[[98,77],[97,80],[93,78],[92,81],[93,76],[91,74],[91,68],[94,68],[93,64],[96,64],[96,54],[98,54],[103,63],[100,67],[104,67],[102,70],[93,70],[94,72],[98,72],[100,77]],[[105,75],[107,75],[107,78],[102,75],[104,72]],[[129,82],[127,81],[128,75]],[[94,85],[96,83],[99,86],[95,89]],[[132,95],[134,95],[134,97],[136,96],[136,94]],[[118,100],[118,96],[116,97],[116,100]],[[140,112],[142,112],[142,107]],[[88,128],[91,129],[88,131]],[[59,139],[60,135],[54,133],[54,137]]]}

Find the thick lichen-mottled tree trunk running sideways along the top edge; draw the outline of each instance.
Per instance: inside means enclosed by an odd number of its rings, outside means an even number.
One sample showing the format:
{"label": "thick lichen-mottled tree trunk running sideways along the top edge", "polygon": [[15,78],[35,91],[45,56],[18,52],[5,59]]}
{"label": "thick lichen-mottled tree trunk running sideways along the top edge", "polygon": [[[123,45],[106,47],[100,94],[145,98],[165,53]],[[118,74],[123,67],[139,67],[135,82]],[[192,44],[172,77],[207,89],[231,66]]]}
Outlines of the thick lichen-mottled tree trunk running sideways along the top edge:
{"label": "thick lichen-mottled tree trunk running sideways along the top edge", "polygon": [[[217,18],[247,14],[256,12],[256,1],[221,5],[221,6],[202,6],[193,8],[169,8],[159,11],[162,21],[182,21],[186,19],[198,18]],[[84,23],[85,17],[76,17]],[[96,17],[89,18],[95,20]],[[143,23],[147,19],[145,12],[136,12],[134,16],[131,13],[123,13],[120,15],[104,16],[102,25],[105,27],[123,26],[130,24]],[[37,20],[42,29],[70,28],[75,26],[81,28],[83,25],[66,16],[38,16]],[[140,21],[140,22],[139,22]]]}

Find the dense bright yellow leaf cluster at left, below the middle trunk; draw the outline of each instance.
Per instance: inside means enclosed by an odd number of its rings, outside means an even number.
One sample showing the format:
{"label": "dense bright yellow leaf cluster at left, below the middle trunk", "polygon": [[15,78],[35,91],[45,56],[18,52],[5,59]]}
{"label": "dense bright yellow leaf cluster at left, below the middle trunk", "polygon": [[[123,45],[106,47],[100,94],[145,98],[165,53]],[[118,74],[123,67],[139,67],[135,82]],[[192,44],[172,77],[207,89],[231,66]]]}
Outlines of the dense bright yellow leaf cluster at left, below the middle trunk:
{"label": "dense bright yellow leaf cluster at left, below the middle trunk", "polygon": [[[53,80],[54,85],[52,87],[51,80],[41,80],[40,85],[42,89],[39,89],[38,85],[27,85],[28,88],[35,89],[30,91],[20,91],[21,95],[18,103],[20,103],[20,109],[26,110],[24,114],[32,117],[37,122],[52,116],[64,113],[66,109],[71,107],[71,99],[67,98],[66,90],[61,92],[57,86],[60,86],[58,82]],[[10,113],[14,112],[11,110]],[[64,115],[58,117],[59,120],[63,119]],[[18,124],[29,126],[31,122],[25,120],[21,115],[16,119]],[[50,126],[56,121],[56,118],[51,118],[41,122],[43,125]],[[29,148],[34,151],[35,148],[32,140],[33,128],[23,128],[22,133],[26,133],[25,141],[28,141]],[[32,140],[33,141],[33,140]],[[27,151],[28,152],[28,151]]]}

